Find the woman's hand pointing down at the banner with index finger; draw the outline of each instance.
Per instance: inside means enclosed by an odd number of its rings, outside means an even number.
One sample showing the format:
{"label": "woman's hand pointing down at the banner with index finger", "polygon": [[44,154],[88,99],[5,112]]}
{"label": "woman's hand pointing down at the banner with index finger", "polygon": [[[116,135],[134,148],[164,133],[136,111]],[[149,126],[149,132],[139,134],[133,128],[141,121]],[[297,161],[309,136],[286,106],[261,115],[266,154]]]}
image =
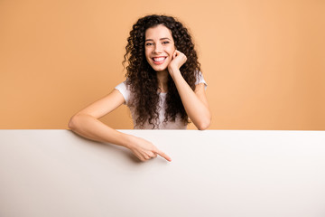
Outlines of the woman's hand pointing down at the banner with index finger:
{"label": "woman's hand pointing down at the banner with index finger", "polygon": [[156,157],[157,155],[163,156],[168,161],[172,161],[170,156],[164,154],[161,150],[159,150],[156,146],[144,138],[141,137],[132,137],[130,145],[127,146],[133,154],[139,158],[141,161],[147,161],[151,158]]}

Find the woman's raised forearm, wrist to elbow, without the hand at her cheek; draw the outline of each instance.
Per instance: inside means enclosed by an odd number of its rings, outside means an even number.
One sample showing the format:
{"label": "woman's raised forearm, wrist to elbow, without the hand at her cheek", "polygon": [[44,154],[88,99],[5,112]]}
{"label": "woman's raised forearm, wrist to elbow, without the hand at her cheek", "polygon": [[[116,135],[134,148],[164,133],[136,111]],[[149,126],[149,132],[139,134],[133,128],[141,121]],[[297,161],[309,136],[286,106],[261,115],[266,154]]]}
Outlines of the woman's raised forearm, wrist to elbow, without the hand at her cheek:
{"label": "woman's raised forearm, wrist to elbow, without the hand at her cheek", "polygon": [[203,103],[196,93],[191,90],[189,84],[181,76],[181,71],[171,71],[171,76],[190,120],[199,129],[208,128],[211,121],[209,106]]}

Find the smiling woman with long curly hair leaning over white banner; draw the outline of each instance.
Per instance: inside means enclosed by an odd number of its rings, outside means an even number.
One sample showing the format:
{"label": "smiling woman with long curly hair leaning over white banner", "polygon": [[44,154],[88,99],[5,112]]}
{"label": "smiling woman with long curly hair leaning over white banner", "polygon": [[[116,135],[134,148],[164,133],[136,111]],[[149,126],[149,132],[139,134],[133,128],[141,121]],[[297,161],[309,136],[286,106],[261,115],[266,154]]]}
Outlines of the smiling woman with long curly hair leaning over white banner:
{"label": "smiling woman with long curly hair leaning over white banner", "polygon": [[185,129],[189,118],[200,130],[209,127],[206,83],[190,33],[173,17],[148,15],[134,24],[127,42],[125,82],[74,115],[69,127],[82,137],[125,146],[141,161],[157,155],[172,161],[151,142],[98,118],[126,104],[135,128]]}

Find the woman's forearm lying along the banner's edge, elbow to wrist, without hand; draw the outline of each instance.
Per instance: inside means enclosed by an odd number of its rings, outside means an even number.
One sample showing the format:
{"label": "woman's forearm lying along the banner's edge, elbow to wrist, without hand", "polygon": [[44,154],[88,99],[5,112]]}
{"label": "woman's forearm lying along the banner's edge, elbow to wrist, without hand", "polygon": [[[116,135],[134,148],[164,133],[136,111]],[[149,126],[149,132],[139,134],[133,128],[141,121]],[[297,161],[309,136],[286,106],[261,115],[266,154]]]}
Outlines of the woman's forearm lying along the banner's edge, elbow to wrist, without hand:
{"label": "woman's forearm lying along the banner's edge, elbow to wrist, without hand", "polygon": [[87,114],[77,114],[70,119],[70,129],[82,137],[98,142],[107,142],[129,148],[131,135],[127,135],[108,127],[97,118]]}

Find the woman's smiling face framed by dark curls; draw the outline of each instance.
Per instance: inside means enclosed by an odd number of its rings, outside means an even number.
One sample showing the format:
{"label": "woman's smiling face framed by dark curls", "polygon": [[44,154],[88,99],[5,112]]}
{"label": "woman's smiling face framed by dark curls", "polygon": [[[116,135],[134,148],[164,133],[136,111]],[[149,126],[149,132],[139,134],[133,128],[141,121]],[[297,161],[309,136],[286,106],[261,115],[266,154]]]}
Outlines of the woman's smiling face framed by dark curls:
{"label": "woman's smiling face framed by dark curls", "polygon": [[172,61],[175,45],[172,31],[163,24],[159,24],[145,31],[145,59],[154,71],[165,71]]}

